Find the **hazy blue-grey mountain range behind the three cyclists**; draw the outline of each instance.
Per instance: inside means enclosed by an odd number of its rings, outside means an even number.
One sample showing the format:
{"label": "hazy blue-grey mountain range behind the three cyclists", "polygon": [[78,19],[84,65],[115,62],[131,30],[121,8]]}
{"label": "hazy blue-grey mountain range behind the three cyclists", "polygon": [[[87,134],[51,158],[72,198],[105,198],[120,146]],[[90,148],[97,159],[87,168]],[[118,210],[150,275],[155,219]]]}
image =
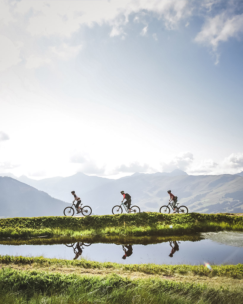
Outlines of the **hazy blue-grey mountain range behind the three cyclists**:
{"label": "hazy blue-grey mountain range behind the three cyclists", "polygon": [[[42,216],[43,213],[45,215],[63,215],[64,207],[73,200],[70,193],[72,190],[80,196],[84,205],[91,206],[93,213],[99,215],[111,214],[112,207],[120,204],[121,190],[132,196],[132,205],[139,206],[141,211],[158,212],[162,205],[167,204],[168,189],[178,196],[179,204],[186,205],[189,212],[243,213],[243,172],[234,175],[193,176],[176,169],[170,173],[135,173],[116,180],[87,176],[78,172],[65,178],[54,177],[39,181],[26,176],[17,178],[10,173],[1,175],[3,177],[0,178],[0,205],[9,205],[13,209],[12,212],[7,212],[8,214],[5,212],[6,214],[2,215],[5,217]],[[5,180],[4,184],[3,180]],[[18,192],[16,185],[15,188],[11,188],[14,186],[14,181],[19,182],[18,189],[22,189],[22,191],[18,190]],[[4,187],[11,188],[9,188],[10,198],[4,192]],[[31,200],[28,199],[30,190],[24,190],[26,188],[37,191],[36,196],[31,195]],[[38,203],[36,203],[37,201]],[[26,207],[15,209],[15,205],[26,206],[27,202],[36,209],[35,215],[24,213],[27,212]],[[42,210],[38,209],[39,205],[43,206]],[[30,214],[29,211],[28,214]]]}

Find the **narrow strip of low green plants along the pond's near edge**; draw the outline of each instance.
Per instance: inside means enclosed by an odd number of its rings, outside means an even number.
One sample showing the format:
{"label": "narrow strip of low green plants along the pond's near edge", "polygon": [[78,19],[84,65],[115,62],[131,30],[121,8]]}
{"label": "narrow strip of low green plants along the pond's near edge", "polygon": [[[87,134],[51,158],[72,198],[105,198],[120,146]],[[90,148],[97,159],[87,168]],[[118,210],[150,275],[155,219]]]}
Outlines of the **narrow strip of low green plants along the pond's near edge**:
{"label": "narrow strip of low green plants along the pond's near edge", "polygon": [[209,270],[204,265],[157,265],[157,264],[118,264],[111,262],[96,262],[81,260],[63,260],[63,259],[50,259],[44,257],[14,257],[0,255],[0,263],[4,265],[17,264],[17,265],[34,265],[35,267],[55,266],[60,267],[81,267],[85,269],[119,269],[122,271],[141,272],[152,275],[200,275],[206,277],[224,276],[228,278],[243,279],[243,264],[237,265],[212,265]]}

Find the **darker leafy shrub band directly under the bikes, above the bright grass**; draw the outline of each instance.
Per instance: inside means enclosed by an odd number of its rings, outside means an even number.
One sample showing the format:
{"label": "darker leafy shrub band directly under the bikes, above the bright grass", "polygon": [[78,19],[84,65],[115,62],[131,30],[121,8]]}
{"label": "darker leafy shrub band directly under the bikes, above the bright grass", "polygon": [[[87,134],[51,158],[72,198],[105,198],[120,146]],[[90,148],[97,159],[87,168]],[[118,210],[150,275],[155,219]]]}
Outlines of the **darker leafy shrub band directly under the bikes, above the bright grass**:
{"label": "darker leafy shrub band directly under the bikes, above the bright grass", "polygon": [[61,228],[61,229],[97,229],[107,226],[119,227],[130,226],[151,226],[154,224],[197,224],[205,222],[225,222],[231,225],[242,225],[243,216],[230,216],[227,214],[162,214],[158,212],[141,212],[137,214],[116,214],[86,217],[67,217],[67,216],[41,216],[41,217],[15,217],[0,219],[2,229],[10,227],[18,228]]}

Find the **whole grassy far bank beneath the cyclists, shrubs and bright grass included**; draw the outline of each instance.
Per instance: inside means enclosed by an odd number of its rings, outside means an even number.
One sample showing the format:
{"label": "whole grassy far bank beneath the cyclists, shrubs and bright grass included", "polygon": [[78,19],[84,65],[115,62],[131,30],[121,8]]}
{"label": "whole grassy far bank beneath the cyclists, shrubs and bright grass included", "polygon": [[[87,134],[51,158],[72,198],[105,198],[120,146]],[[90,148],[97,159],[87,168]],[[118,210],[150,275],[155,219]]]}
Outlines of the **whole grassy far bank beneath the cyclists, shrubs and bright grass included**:
{"label": "whole grassy far bank beneath the cyclists, shrubs and bright grass included", "polygon": [[0,219],[0,237],[181,235],[206,231],[243,230],[243,217],[227,214],[161,214],[141,212],[87,217],[48,216]]}

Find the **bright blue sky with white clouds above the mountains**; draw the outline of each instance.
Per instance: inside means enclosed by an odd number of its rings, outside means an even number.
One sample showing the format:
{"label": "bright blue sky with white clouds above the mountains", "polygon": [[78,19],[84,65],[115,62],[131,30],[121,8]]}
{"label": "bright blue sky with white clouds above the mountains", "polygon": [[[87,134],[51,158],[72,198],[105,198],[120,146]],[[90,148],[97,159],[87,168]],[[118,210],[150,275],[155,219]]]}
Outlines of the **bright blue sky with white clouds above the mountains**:
{"label": "bright blue sky with white clouds above the mountains", "polygon": [[243,1],[0,1],[0,173],[243,171]]}

